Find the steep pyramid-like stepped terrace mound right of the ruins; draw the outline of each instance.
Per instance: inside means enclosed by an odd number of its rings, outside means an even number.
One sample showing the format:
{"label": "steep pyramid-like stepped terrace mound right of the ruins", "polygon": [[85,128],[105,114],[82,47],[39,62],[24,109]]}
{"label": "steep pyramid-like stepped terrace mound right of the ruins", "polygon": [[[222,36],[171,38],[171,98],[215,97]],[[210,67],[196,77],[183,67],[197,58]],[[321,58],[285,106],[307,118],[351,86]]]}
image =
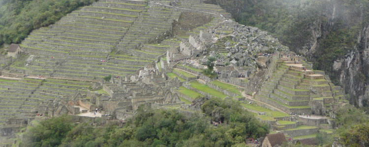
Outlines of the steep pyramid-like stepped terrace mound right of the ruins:
{"label": "steep pyramid-like stepped terrace mound right of the ruins", "polygon": [[333,90],[332,86],[324,75],[306,70],[302,64],[285,60],[279,63],[276,72],[263,85],[256,99],[288,114],[320,114],[323,110],[317,110],[313,105],[327,106],[338,101],[333,96],[339,98],[341,95],[340,87]]}

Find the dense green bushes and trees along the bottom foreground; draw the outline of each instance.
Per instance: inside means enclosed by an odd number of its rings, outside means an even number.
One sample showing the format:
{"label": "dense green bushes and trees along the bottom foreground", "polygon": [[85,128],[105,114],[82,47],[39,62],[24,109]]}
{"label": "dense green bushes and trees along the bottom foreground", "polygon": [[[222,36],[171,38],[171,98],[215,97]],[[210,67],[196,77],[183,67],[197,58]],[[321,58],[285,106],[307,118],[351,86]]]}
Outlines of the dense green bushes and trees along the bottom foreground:
{"label": "dense green bushes and trees along the bottom foreground", "polygon": [[[201,110],[205,115],[184,114],[175,109],[153,110],[141,105],[123,126],[118,122],[99,127],[89,122],[75,124],[70,116],[33,121],[19,144],[20,147],[235,147],[245,145],[246,138],[268,133],[268,125],[258,122],[238,101],[212,98],[204,101]],[[214,127],[210,121],[222,123]]]}

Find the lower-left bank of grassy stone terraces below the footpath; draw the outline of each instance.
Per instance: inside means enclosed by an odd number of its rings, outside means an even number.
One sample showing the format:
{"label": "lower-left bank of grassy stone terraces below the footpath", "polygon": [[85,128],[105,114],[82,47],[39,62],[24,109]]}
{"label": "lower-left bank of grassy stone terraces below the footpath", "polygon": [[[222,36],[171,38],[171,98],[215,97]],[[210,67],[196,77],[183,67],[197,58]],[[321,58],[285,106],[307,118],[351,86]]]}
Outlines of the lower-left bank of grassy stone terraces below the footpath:
{"label": "lower-left bank of grassy stone terraces below the footpath", "polygon": [[43,101],[73,95],[76,89],[86,94],[91,85],[90,82],[62,79],[0,79],[0,122],[35,115],[32,108]]}

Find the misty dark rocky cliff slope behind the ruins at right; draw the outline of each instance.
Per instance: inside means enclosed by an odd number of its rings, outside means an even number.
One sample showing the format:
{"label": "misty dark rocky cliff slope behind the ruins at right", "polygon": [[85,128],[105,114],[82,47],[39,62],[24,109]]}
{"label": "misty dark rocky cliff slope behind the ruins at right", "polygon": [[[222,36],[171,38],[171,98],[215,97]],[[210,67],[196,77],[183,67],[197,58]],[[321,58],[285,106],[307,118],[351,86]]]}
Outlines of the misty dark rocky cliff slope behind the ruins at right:
{"label": "misty dark rocky cliff slope behind the ruins at right", "polygon": [[369,105],[368,0],[207,0],[237,22],[266,30],[315,70],[341,85],[350,102]]}

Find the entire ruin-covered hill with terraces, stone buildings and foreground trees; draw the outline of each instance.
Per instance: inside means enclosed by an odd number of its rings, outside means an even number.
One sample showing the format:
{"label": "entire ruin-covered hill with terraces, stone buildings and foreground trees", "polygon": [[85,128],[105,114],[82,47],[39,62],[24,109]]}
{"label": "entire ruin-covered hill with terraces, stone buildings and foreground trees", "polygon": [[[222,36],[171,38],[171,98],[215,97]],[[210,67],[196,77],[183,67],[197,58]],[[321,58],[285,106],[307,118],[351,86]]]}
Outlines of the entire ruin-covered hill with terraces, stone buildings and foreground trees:
{"label": "entire ruin-covered hill with terraces, stone buildings and foreground trees", "polygon": [[95,1],[0,55],[0,145],[332,146],[364,136],[350,133],[367,116],[344,87],[291,50],[203,0]]}

